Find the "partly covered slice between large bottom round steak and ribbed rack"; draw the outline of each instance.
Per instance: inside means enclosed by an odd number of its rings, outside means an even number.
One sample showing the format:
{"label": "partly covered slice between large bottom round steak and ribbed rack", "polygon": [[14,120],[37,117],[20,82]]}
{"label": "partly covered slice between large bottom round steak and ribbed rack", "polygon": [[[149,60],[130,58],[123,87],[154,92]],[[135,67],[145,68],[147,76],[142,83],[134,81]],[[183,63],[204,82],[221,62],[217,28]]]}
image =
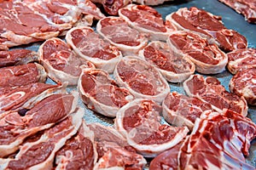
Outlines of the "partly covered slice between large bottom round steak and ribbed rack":
{"label": "partly covered slice between large bottom round steak and ribbed rack", "polygon": [[212,105],[194,97],[187,97],[177,92],[172,92],[163,101],[163,116],[166,122],[177,127],[187,126],[193,129],[195,119],[203,111],[212,110]]}

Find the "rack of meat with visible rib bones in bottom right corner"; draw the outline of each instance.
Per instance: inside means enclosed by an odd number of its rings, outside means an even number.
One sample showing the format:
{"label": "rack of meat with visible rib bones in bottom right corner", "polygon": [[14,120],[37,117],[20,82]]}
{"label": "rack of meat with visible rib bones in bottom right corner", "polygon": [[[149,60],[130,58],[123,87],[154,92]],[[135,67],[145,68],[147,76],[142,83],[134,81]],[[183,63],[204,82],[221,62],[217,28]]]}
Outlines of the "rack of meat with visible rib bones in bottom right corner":
{"label": "rack of meat with visible rib bones in bottom right corner", "polygon": [[[221,125],[221,126],[219,126]],[[255,169],[247,164],[256,126],[234,111],[205,111],[178,155],[180,169]]]}

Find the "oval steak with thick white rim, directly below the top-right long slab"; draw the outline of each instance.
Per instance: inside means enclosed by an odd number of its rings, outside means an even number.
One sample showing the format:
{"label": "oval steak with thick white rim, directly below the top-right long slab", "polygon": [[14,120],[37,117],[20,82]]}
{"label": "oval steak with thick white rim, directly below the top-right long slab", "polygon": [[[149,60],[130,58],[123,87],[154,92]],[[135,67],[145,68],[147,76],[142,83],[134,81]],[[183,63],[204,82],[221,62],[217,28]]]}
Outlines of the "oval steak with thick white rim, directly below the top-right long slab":
{"label": "oval steak with thick white rim, directly below the top-right long slab", "polygon": [[195,70],[203,74],[216,74],[225,70],[228,57],[216,44],[192,31],[176,31],[167,39],[171,50],[189,57]]}

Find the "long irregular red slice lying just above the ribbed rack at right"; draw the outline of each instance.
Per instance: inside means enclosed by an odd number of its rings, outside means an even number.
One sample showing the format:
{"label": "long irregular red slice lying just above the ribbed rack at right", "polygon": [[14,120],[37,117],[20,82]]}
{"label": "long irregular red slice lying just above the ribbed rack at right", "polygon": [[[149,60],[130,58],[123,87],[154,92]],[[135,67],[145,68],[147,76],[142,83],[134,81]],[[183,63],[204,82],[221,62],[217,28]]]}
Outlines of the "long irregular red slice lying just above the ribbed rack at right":
{"label": "long irregular red slice lying just above the ribbed rack at right", "polygon": [[230,109],[247,116],[246,99],[236,94],[230,94],[215,77],[191,76],[183,82],[183,88],[189,96],[197,97],[211,104],[215,111],[222,112],[224,109]]}

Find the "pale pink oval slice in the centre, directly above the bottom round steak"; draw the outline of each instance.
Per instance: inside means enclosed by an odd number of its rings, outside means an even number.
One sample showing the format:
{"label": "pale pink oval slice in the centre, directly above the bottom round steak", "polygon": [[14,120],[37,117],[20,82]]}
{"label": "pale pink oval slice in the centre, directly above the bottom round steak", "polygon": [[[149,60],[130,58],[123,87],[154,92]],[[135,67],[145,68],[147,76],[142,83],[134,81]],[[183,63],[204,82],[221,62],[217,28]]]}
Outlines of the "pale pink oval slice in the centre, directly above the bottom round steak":
{"label": "pale pink oval slice in the centre, directly above the bottom round steak", "polygon": [[135,56],[121,59],[113,76],[120,86],[127,88],[136,98],[161,103],[170,92],[168,83],[154,65]]}

